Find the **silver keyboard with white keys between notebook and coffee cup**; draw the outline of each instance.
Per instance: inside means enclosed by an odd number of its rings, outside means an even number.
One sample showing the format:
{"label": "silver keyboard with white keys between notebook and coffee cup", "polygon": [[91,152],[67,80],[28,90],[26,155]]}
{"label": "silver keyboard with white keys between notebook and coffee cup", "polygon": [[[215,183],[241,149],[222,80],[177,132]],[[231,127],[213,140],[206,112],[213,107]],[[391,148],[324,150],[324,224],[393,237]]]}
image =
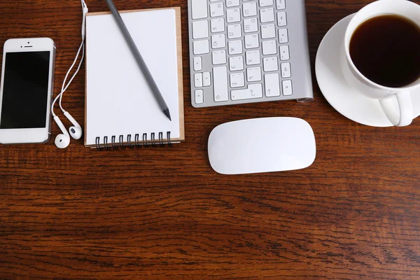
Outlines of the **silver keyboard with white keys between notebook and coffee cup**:
{"label": "silver keyboard with white keys between notebook and coffee cup", "polygon": [[304,0],[188,0],[195,107],[313,99]]}

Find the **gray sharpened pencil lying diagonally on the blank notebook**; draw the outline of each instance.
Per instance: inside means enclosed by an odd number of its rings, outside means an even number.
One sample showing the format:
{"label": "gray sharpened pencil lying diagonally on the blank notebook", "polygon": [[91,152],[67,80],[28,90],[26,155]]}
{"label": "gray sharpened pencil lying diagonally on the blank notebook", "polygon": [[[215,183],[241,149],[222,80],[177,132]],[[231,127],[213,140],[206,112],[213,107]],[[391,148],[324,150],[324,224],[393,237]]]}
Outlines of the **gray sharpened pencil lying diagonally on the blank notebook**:
{"label": "gray sharpened pencil lying diagonally on the blank notebook", "polygon": [[160,108],[162,109],[163,113],[165,113],[165,115],[169,118],[169,120],[172,120],[165,99],[163,99],[158,85],[156,85],[155,80],[153,80],[151,72],[148,70],[146,63],[143,60],[143,57],[141,57],[139,49],[137,48],[136,43],[134,43],[133,38],[130,35],[130,32],[128,31],[127,27],[125,26],[125,23],[123,22],[120,13],[118,13],[118,10],[112,0],[106,0],[106,3],[109,6],[109,10],[111,10],[111,13],[113,14],[113,17],[116,19],[118,27],[120,27],[121,32],[123,32],[125,41],[127,41],[127,44],[130,46],[130,50],[136,58],[137,64],[139,64],[141,71],[144,73],[144,77],[146,78],[149,87],[151,87],[153,95],[158,101]]}

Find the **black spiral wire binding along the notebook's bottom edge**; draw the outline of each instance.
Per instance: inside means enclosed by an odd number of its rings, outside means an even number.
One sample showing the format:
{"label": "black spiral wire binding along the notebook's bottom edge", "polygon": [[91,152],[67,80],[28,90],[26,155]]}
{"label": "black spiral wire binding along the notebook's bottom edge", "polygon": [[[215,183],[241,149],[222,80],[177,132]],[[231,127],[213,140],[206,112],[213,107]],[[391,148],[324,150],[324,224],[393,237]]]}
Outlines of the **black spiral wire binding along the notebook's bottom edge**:
{"label": "black spiral wire binding along the notebook's bottom edge", "polygon": [[[124,151],[127,147],[130,148],[130,150],[134,149],[134,147],[141,148],[144,146],[144,148],[148,148],[149,146],[152,147],[165,147],[165,141],[163,139],[163,132],[159,132],[159,139],[158,142],[156,142],[155,139],[155,132],[151,133],[151,139],[148,142],[147,139],[147,133],[144,133],[142,135],[143,139],[140,141],[140,135],[134,134],[134,143],[132,142],[132,134],[127,134],[127,142],[124,142],[124,136],[120,135],[118,137],[118,142],[116,141],[116,136],[113,135],[111,137],[111,143],[108,143],[108,137],[104,137],[104,143],[101,144],[101,137],[96,137],[95,139],[95,146],[97,148],[97,151],[118,151],[120,148],[122,151]],[[169,147],[172,147],[172,140],[171,140],[171,132],[167,132],[167,144]]]}

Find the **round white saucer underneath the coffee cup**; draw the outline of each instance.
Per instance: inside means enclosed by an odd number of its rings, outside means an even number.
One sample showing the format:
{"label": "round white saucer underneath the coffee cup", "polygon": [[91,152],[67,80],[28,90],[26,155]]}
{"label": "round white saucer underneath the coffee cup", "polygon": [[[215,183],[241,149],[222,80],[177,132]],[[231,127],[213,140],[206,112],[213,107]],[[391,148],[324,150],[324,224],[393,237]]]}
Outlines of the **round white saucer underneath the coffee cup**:
{"label": "round white saucer underneath the coffee cup", "polygon": [[[354,15],[354,14],[353,14]],[[328,103],[346,118],[372,127],[391,127],[379,101],[360,94],[349,85],[340,64],[340,47],[353,15],[337,22],[325,34],[316,53],[315,73],[319,88]],[[395,102],[396,104],[396,102]],[[420,116],[420,89],[412,92],[414,118]]]}

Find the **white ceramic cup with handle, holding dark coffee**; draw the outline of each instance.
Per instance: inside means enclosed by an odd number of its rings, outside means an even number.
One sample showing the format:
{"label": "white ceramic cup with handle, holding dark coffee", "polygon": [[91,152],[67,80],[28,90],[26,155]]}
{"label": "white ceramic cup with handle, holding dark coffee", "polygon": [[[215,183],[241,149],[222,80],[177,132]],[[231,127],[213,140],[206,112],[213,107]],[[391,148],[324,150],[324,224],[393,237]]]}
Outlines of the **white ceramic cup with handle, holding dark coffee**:
{"label": "white ceramic cup with handle, holding dark coffee", "polygon": [[413,106],[410,92],[420,87],[420,78],[404,87],[379,85],[363,76],[350,56],[350,41],[354,31],[366,20],[380,15],[400,15],[420,27],[420,6],[416,3],[407,0],[378,0],[368,4],[353,16],[346,29],[341,51],[342,69],[344,77],[351,86],[367,97],[378,99],[388,120],[393,125],[402,127],[412,123]]}

